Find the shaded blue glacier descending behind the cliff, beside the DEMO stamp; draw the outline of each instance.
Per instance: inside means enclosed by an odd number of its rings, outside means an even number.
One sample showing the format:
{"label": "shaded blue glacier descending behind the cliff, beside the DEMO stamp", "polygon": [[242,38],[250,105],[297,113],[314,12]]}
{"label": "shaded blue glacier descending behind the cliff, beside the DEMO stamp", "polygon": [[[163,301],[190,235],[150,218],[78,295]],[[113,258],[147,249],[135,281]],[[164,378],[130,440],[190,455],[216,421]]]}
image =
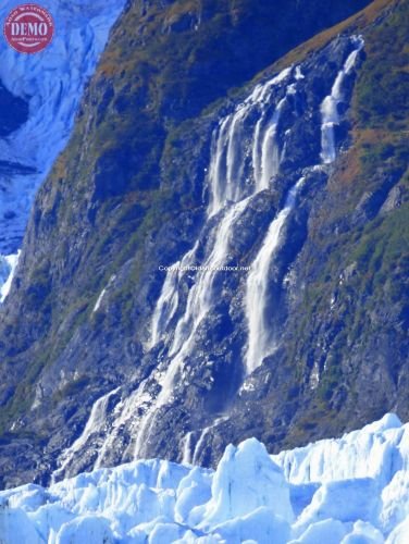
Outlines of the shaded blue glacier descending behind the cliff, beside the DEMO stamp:
{"label": "shaded blue glacier descending behind the cliff, beside the DEMO stamp", "polygon": [[[2,2],[1,21],[20,3]],[[52,44],[41,53],[21,54],[0,42],[0,83],[28,102],[27,121],[0,138],[0,286],[12,271],[3,273],[7,258],[22,245],[37,189],[69,140],[84,87],[124,3],[42,0],[55,22]]]}

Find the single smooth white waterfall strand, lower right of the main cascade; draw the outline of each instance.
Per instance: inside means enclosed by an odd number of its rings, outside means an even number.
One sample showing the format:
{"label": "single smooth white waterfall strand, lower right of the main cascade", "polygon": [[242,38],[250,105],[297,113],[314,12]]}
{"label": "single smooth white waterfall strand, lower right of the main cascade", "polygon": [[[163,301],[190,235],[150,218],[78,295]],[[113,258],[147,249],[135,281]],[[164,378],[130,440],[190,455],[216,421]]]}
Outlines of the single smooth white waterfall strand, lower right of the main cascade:
{"label": "single smooth white waterfall strand, lower right of the main cascade", "polygon": [[296,198],[305,177],[290,189],[284,208],[271,223],[264,242],[258,252],[247,277],[246,316],[248,321],[248,348],[246,354],[246,373],[250,374],[259,367],[263,358],[271,353],[269,329],[269,283],[270,267],[280,246],[283,226],[295,207]]}

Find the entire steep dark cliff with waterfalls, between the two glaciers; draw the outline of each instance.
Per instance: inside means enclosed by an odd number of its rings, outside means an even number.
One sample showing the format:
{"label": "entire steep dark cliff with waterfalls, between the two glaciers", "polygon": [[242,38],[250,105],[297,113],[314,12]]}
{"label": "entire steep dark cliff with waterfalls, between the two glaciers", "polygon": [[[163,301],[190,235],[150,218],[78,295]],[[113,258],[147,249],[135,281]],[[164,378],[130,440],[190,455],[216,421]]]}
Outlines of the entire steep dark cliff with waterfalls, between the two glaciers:
{"label": "entire steep dark cliff with waterfalls, between the two glaciers", "polygon": [[127,4],[1,313],[3,485],[407,418],[409,3],[282,58],[326,4]]}

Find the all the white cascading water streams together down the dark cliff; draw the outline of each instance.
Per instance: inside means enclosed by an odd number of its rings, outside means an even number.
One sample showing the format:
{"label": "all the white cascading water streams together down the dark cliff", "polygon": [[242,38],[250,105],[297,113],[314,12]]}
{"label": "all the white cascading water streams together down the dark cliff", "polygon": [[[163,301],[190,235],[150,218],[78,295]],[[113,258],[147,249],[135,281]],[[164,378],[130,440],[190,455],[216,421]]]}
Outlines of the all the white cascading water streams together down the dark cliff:
{"label": "all the white cascading water streams together down the dark cliff", "polygon": [[[269,305],[271,271],[275,262],[278,262],[275,259],[285,248],[283,235],[287,232],[287,224],[297,202],[300,201],[302,185],[310,182],[312,174],[325,177],[325,164],[335,158],[334,126],[344,120],[338,106],[339,101],[347,98],[344,83],[363,45],[359,38],[342,40],[344,42],[337,49],[335,59],[343,66],[336,78],[334,75],[332,88],[326,87],[326,98],[317,97],[315,87],[311,83],[311,66],[317,61],[306,62],[302,70],[301,66],[286,69],[265,84],[256,86],[233,113],[219,122],[211,141],[207,177],[209,203],[203,228],[193,248],[170,267],[152,313],[145,357],[153,366],[153,370],[142,381],[137,374],[135,385],[129,384],[134,387],[131,393],[127,387],[121,391],[121,401],[108,415],[108,431],[102,447],[99,448],[96,466],[112,462],[110,453],[116,452],[119,443],[124,448],[121,454],[123,459],[152,454],[153,437],[158,430],[163,430],[163,408],[183,406],[181,393],[189,383],[190,378],[187,376],[190,376],[194,367],[191,361],[196,355],[199,386],[209,384],[209,391],[213,391],[213,383],[206,382],[208,378],[203,378],[205,373],[201,372],[210,359],[200,354],[206,350],[208,332],[212,332],[212,311],[214,310],[218,319],[225,311],[219,310],[218,304],[221,300],[226,301],[230,309],[234,307],[234,326],[238,326],[238,331],[243,333],[243,341],[237,339],[235,349],[241,349],[246,376],[274,350],[271,326],[274,308]],[[350,44],[354,51],[344,62],[342,51],[350,51]],[[325,53],[323,57],[326,59]],[[327,81],[324,82],[325,85]],[[344,92],[346,97],[343,96]],[[327,112],[331,112],[331,119]],[[322,125],[314,122],[317,113],[321,113]],[[337,118],[334,121],[335,113]],[[305,132],[303,124],[308,125]],[[313,161],[308,151],[298,152],[297,149],[296,159],[289,154],[296,150],[302,137],[313,138],[311,149],[315,153],[313,157],[317,157]],[[321,164],[317,165],[320,162],[320,143]],[[310,149],[308,145],[306,149]],[[296,166],[289,172],[293,164]],[[320,170],[321,174],[314,174],[314,169]],[[272,223],[265,226],[265,214],[271,217],[269,207],[273,196],[269,189],[280,189],[276,184],[281,177],[277,175],[283,174],[289,176],[287,183],[290,189]],[[236,264],[236,255],[245,256],[240,264],[250,264],[256,242],[256,231],[252,238],[252,224],[257,227],[257,240],[261,235],[262,242],[256,249],[251,271],[247,279],[231,280],[220,269]],[[248,238],[248,252],[237,254],[237,242],[243,242],[243,239]],[[234,304],[233,298],[228,298],[233,296],[236,296]],[[231,345],[226,344],[224,348],[228,350]],[[213,355],[218,357],[216,354]],[[227,357],[231,355],[228,353]],[[239,366],[240,356],[237,356],[237,351],[235,357]],[[213,374],[207,375],[211,376],[209,380],[213,380]],[[219,380],[216,374],[214,380]],[[193,423],[188,413],[184,415],[184,426],[178,429],[176,440],[185,462],[202,460],[209,435],[213,434],[214,426],[228,418],[224,409],[218,408],[214,419],[201,415],[202,420],[198,418],[199,428],[193,426],[197,422]],[[64,456],[61,458],[65,460]]]}

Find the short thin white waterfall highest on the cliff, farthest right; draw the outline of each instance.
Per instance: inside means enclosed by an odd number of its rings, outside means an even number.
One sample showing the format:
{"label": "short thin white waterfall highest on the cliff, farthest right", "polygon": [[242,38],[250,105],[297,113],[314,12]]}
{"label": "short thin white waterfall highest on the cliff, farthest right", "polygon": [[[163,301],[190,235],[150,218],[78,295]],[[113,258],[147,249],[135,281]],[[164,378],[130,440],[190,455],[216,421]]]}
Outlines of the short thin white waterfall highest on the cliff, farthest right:
{"label": "short thin white waterfall highest on the cliff, farthest right", "polygon": [[362,38],[356,38],[356,49],[348,55],[336,76],[331,95],[325,97],[321,104],[321,160],[324,164],[331,164],[336,159],[335,127],[340,122],[338,107],[344,99],[343,84],[345,77],[351,72],[362,47]]}

